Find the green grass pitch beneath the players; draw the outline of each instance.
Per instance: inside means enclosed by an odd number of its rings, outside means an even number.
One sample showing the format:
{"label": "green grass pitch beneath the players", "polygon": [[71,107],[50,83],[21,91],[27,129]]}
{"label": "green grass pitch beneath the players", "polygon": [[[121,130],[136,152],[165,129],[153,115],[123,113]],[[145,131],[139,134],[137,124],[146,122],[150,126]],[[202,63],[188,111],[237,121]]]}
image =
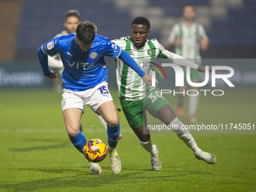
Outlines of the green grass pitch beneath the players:
{"label": "green grass pitch beneath the players", "polygon": [[[201,97],[200,122],[255,123],[256,91],[243,92]],[[177,98],[169,99],[175,106]],[[90,175],[84,157],[69,142],[60,101],[52,90],[0,92],[0,191],[256,191],[255,135],[195,134],[200,148],[218,158],[208,165],[177,136],[154,134],[163,164],[161,172],[154,172],[122,112],[123,139],[117,147],[122,172],[114,175],[107,157],[100,163],[102,175]],[[180,119],[187,123],[186,117]],[[82,123],[87,139],[107,141],[90,108]]]}

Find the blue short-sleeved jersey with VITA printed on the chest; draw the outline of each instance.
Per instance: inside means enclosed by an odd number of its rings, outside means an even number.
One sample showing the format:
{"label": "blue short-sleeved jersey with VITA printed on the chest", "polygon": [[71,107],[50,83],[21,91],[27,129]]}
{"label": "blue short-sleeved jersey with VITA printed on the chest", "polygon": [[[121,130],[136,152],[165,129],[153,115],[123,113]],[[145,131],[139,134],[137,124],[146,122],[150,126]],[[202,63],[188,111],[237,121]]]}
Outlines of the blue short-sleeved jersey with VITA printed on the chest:
{"label": "blue short-sleeved jersey with VITA printed on the chest", "polygon": [[82,52],[74,33],[47,41],[41,50],[49,56],[59,53],[64,65],[63,87],[74,91],[88,90],[107,81],[108,68],[104,56],[117,58],[121,53],[119,46],[100,35],[95,35],[90,49]]}

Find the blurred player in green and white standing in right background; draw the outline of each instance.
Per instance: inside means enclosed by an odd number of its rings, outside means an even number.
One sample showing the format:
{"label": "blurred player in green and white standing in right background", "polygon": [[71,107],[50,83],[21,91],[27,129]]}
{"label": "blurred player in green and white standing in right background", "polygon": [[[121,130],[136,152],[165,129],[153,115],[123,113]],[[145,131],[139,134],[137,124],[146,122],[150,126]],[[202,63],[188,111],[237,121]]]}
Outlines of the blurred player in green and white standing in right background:
{"label": "blurred player in green and white standing in right background", "polygon": [[[209,47],[209,38],[206,35],[205,29],[200,23],[194,22],[196,12],[193,6],[187,5],[183,9],[184,20],[176,23],[173,26],[169,35],[169,46],[175,46],[175,53],[196,62],[197,65],[201,64],[200,49],[206,50]],[[186,69],[184,69],[185,71]],[[190,70],[190,78],[194,83],[200,81],[200,73]],[[187,81],[184,81],[187,82]],[[179,91],[183,92],[186,87],[180,87]],[[191,87],[192,90],[198,90],[198,87]],[[184,115],[184,96],[179,95],[178,102],[178,115]],[[191,123],[196,123],[195,117],[197,105],[199,102],[199,95],[189,96],[188,120]]]}

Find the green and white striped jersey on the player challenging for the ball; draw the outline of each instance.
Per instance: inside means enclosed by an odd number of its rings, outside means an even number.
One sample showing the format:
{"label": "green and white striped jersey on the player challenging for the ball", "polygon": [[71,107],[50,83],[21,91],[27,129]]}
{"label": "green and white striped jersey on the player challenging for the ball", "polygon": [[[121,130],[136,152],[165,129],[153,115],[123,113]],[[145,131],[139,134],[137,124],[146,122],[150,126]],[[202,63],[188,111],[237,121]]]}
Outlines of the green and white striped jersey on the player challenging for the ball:
{"label": "green and white striped jersey on the player challenging for the ball", "polygon": [[[147,40],[145,46],[138,49],[133,45],[130,37],[124,37],[113,40],[115,44],[119,45],[121,49],[130,54],[138,63],[139,67],[145,73],[151,73],[151,63],[157,56],[165,59],[172,59],[172,53],[166,50],[157,39]],[[145,98],[146,91],[150,89],[142,78],[123,63],[120,59],[116,59],[117,68],[117,86],[119,89],[120,99],[127,101],[139,101]]]}

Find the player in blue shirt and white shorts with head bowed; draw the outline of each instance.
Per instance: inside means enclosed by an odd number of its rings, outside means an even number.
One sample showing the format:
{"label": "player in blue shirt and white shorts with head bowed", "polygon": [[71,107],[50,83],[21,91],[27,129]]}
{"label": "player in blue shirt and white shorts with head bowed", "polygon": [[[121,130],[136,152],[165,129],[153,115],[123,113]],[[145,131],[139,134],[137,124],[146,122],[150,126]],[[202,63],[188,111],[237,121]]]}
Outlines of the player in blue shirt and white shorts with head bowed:
{"label": "player in blue shirt and white shorts with head bowed", "polygon": [[[119,174],[121,163],[116,151],[120,123],[117,110],[111,94],[108,91],[108,68],[104,56],[121,59],[142,80],[151,85],[151,75],[145,74],[137,63],[121,50],[119,46],[95,33],[96,26],[90,21],[82,22],[76,29],[76,34],[53,38],[38,48],[38,58],[44,75],[56,78],[55,72],[50,72],[47,56],[59,53],[64,71],[62,72],[63,93],[62,112],[69,139],[75,148],[83,153],[87,140],[79,130],[84,105],[88,105],[100,114],[108,123],[108,153],[110,154],[111,170]],[[93,175],[102,174],[98,163],[89,163]]]}

